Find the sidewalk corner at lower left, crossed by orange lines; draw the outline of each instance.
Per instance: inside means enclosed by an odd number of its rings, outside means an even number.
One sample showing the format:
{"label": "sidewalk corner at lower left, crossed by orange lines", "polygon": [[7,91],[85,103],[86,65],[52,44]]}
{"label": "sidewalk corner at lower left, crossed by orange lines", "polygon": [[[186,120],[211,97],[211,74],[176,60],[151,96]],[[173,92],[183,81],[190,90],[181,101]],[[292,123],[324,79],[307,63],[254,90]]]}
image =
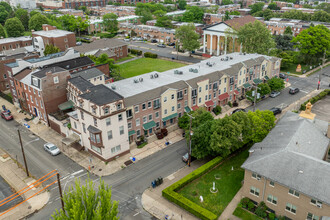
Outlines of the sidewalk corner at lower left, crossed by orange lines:
{"label": "sidewalk corner at lower left, crossed by orange lines", "polygon": [[[1,147],[1,146],[0,146]],[[35,181],[31,177],[27,177],[23,169],[18,168],[15,161],[10,157],[6,158],[6,152],[0,149],[0,175],[6,180],[6,182],[17,192]],[[8,156],[8,155],[7,155]],[[40,191],[42,187],[32,188],[28,192],[22,195],[23,200],[33,196],[36,192]],[[2,199],[1,199],[2,200]],[[27,215],[30,215],[40,210],[49,200],[49,193],[47,190],[40,192],[38,195],[32,197],[28,201],[22,203],[19,207],[7,212],[0,219],[16,220],[22,219]]]}

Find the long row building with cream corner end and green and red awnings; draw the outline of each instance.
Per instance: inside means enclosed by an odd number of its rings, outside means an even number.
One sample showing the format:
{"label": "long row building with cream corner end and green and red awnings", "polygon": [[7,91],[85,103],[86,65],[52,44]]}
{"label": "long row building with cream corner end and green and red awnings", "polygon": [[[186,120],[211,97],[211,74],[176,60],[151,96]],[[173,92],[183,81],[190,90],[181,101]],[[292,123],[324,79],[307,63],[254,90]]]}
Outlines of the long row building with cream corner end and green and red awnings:
{"label": "long row building with cream corner end and green and red awnings", "polygon": [[142,135],[151,141],[160,128],[176,129],[184,112],[212,111],[238,101],[253,84],[278,76],[279,70],[278,58],[233,53],[95,89],[86,80],[70,79],[68,97],[76,106],[70,123],[89,152],[109,161]]}

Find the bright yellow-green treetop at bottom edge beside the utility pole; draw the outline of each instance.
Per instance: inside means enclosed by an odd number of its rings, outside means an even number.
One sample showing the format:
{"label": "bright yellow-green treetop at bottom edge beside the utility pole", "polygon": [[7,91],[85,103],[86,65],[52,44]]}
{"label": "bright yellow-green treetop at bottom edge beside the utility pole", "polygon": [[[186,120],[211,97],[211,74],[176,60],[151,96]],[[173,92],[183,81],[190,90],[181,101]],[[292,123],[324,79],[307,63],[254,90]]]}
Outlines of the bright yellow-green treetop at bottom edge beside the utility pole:
{"label": "bright yellow-green treetop at bottom edge beside the utility pole", "polygon": [[63,195],[64,210],[57,210],[52,215],[54,220],[102,219],[118,220],[118,201],[111,199],[111,188],[100,179],[98,190],[91,179],[85,185],[75,181],[75,188]]}

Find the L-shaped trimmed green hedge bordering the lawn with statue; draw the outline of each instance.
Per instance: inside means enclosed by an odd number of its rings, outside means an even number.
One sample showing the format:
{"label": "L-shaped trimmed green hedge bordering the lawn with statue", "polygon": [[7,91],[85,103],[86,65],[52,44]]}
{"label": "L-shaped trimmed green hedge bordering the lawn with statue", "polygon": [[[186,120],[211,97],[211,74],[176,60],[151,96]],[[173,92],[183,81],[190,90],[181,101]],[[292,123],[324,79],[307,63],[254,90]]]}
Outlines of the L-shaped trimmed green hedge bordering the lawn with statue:
{"label": "L-shaped trimmed green hedge bordering the lawn with statue", "polygon": [[218,165],[222,157],[216,157],[210,162],[204,164],[203,166],[197,168],[187,176],[183,177],[176,183],[173,183],[171,186],[167,187],[162,191],[163,197],[168,199],[169,201],[179,205],[180,207],[184,208],[188,212],[194,214],[196,217],[203,219],[203,220],[214,220],[217,219],[218,216],[209,210],[197,205],[196,203],[190,201],[189,199],[185,198],[184,196],[177,193],[178,190],[182,189],[188,183],[194,181],[198,177],[202,176],[203,174],[207,173],[213,167]]}

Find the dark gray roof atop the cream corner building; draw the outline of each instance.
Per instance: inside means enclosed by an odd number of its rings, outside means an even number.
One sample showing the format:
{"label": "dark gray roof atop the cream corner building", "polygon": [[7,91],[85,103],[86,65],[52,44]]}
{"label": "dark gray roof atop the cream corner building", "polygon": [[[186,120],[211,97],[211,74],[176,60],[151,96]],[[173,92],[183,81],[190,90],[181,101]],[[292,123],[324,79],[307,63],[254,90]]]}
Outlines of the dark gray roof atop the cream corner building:
{"label": "dark gray roof atop the cream corner building", "polygon": [[121,95],[102,84],[90,87],[88,90],[88,92],[81,94],[79,97],[87,99],[96,105],[105,105],[123,99]]}

